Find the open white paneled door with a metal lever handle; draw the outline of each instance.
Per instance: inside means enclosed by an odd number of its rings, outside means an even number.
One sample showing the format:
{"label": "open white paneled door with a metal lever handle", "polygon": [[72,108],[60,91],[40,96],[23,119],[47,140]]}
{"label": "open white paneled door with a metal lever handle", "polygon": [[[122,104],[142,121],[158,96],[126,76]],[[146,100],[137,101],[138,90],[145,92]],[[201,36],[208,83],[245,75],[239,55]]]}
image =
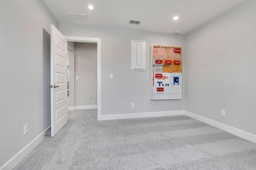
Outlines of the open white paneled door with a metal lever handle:
{"label": "open white paneled door with a metal lever handle", "polygon": [[51,136],[68,123],[68,41],[51,25]]}

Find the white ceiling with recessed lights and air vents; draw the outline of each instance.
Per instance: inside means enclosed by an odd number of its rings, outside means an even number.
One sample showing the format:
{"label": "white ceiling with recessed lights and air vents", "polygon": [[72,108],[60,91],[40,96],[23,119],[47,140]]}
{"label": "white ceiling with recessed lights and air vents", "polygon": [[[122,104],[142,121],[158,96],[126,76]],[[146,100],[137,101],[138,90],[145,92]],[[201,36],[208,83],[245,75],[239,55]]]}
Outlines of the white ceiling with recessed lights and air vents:
{"label": "white ceiling with recessed lights and air vents", "polygon": [[[244,0],[43,0],[59,23],[186,34]],[[94,10],[87,8],[94,5]],[[87,14],[74,20],[66,13]],[[178,15],[178,20],[173,20]],[[130,20],[142,21],[140,25]]]}

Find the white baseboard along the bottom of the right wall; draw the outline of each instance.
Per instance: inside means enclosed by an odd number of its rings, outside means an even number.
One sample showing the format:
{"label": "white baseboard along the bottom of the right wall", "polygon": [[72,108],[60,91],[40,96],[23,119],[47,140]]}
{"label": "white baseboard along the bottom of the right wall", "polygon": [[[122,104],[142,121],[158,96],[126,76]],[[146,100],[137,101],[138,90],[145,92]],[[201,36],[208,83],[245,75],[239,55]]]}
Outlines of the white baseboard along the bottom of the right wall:
{"label": "white baseboard along the bottom of the right wall", "polygon": [[189,117],[192,117],[196,120],[199,120],[199,121],[202,121],[204,123],[207,123],[208,125],[211,125],[211,126],[214,126],[214,127],[217,127],[223,131],[226,131],[228,133],[232,133],[233,135],[236,135],[238,137],[241,137],[243,139],[246,139],[247,141],[251,141],[253,143],[256,143],[256,135],[252,134],[252,133],[248,133],[246,131],[242,131],[240,129],[236,129],[235,127],[231,127],[229,125],[225,125],[223,123],[220,123],[218,121],[214,121],[212,119],[208,119],[206,117],[202,117],[200,115],[196,115],[194,113],[191,113],[189,111],[184,111],[184,114],[189,116]]}

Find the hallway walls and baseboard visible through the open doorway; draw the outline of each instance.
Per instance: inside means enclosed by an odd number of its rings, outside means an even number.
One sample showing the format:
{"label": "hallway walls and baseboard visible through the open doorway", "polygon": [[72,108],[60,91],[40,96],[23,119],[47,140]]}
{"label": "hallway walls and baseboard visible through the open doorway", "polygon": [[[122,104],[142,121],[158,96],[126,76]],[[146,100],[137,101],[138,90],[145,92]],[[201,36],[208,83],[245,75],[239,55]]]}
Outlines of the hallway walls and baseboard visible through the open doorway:
{"label": "hallway walls and baseboard visible through the open doorway", "polygon": [[68,109],[97,109],[97,44],[68,42],[68,51]]}

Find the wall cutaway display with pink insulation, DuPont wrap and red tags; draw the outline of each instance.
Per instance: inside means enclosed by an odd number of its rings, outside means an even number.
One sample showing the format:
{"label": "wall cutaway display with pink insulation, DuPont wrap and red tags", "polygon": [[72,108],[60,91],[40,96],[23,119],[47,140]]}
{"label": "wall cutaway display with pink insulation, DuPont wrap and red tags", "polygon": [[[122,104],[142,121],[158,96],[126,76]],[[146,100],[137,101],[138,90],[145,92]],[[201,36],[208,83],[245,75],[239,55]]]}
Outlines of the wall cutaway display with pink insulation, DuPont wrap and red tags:
{"label": "wall cutaway display with pink insulation, DuPont wrap and red tags", "polygon": [[151,100],[182,98],[182,47],[152,45]]}

